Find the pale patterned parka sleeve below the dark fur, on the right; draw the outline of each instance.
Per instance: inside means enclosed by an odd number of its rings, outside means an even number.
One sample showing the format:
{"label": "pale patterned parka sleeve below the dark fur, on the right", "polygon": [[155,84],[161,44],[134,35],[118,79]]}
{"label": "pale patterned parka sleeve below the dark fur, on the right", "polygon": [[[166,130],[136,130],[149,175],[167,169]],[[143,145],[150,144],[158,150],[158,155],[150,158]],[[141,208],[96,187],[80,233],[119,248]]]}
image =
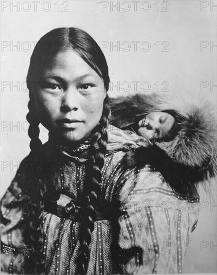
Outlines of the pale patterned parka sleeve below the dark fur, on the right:
{"label": "pale patterned parka sleeve below the dark fur, on the right", "polygon": [[120,273],[181,273],[198,200],[189,207],[150,167],[126,177],[118,191]]}

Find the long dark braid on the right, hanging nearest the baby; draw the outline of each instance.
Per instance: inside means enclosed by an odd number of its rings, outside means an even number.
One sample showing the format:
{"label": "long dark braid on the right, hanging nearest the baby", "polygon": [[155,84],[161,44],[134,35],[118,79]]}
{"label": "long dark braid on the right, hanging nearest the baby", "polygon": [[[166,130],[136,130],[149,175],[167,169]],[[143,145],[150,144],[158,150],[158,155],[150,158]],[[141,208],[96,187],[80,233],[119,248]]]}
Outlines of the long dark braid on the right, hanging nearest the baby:
{"label": "long dark braid on the right, hanging nearest the baby", "polygon": [[[100,198],[100,180],[102,177],[101,169],[104,165],[104,155],[107,147],[108,133],[108,117],[110,107],[108,96],[104,99],[104,107],[102,117],[95,133],[91,138],[91,158],[89,161],[89,169],[87,177],[91,178],[90,184],[85,186],[90,190],[89,194],[83,199],[83,218],[84,222],[80,232],[81,252],[78,256],[78,271],[80,274],[85,274],[88,265],[89,244],[91,242],[91,233],[94,230],[94,220],[96,219],[95,208],[99,205]],[[85,190],[85,193],[87,191]]]}

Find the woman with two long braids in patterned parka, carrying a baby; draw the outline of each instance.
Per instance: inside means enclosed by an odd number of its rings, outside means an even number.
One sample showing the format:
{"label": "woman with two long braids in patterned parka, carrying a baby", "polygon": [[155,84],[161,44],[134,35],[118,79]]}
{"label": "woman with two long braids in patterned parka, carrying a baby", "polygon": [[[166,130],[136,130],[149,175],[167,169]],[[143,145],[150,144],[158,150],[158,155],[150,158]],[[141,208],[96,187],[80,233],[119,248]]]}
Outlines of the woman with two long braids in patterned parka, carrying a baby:
{"label": "woman with two long braids in patterned parka, carrying a baby", "polygon": [[[214,158],[202,155],[207,166],[198,171],[108,126],[107,63],[81,29],[45,34],[27,83],[31,151],[2,199],[2,272],[182,272],[199,213],[196,184],[213,176]],[[39,123],[49,129],[43,145]],[[200,177],[189,180],[190,172]]]}

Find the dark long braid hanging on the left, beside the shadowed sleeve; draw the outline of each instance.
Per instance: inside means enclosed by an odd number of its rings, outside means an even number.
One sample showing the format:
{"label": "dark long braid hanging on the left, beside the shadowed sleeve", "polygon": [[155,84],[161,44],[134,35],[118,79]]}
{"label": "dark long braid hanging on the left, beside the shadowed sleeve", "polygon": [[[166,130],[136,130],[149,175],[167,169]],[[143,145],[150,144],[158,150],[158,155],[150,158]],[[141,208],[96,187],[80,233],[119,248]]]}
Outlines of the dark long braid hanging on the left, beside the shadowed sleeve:
{"label": "dark long braid hanging on the left, beside the shadowed sleeve", "polygon": [[[26,119],[29,122],[28,135],[31,138],[30,141],[30,149],[31,152],[29,154],[31,164],[34,164],[34,161],[41,161],[41,146],[42,143],[39,139],[39,121],[36,121],[36,112],[35,112],[35,104],[32,99],[32,94],[29,92],[29,102],[28,109],[29,112],[26,115]],[[44,258],[43,258],[43,226],[42,226],[42,211],[43,211],[43,197],[44,197],[44,183],[43,183],[43,171],[41,169],[41,165],[39,169],[35,170],[36,165],[33,165],[31,168],[31,176],[34,180],[33,184],[36,184],[36,190],[38,192],[39,201],[36,203],[31,203],[31,209],[29,211],[28,219],[29,226],[26,228],[26,233],[29,234],[29,240],[34,249],[34,258],[32,261],[35,261],[35,266],[33,267],[32,273],[41,274],[44,269]],[[32,262],[30,263],[30,268],[32,268]]]}

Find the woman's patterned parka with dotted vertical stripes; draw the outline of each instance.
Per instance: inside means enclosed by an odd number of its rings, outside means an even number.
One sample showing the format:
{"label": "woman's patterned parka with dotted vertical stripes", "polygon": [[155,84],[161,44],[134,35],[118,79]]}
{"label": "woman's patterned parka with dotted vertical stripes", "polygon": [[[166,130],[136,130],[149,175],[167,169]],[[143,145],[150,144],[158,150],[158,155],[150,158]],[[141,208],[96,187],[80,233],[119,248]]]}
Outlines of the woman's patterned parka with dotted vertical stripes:
{"label": "woman's patterned parka with dotted vertical stripes", "polygon": [[[194,115],[187,113],[186,120]],[[204,142],[200,134],[193,136],[192,129],[189,123],[182,130],[186,135],[191,131],[192,141]],[[189,238],[199,217],[196,185],[216,173],[210,131],[207,129],[210,145],[206,157],[198,147],[200,166],[195,164],[191,148],[188,154],[193,165],[189,159],[185,161],[186,152],[182,153],[178,141],[175,155],[175,143],[145,141],[112,125],[108,131],[87,274],[182,273]],[[180,142],[185,136],[180,132]],[[44,273],[77,274],[82,216],[79,211],[68,215],[65,205],[81,196],[87,180],[88,142],[72,151],[48,141],[43,150],[48,171],[42,212]],[[29,163],[27,156],[1,200],[2,274],[28,273],[34,253],[25,230],[29,202],[38,199]]]}

